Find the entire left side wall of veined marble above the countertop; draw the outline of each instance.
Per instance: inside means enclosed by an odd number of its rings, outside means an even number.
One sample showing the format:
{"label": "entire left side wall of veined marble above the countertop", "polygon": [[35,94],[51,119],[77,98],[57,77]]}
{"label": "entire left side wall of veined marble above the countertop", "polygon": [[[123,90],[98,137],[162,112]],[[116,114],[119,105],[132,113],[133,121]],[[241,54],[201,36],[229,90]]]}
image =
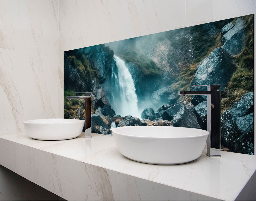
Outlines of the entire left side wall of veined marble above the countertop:
{"label": "entire left side wall of veined marble above the countertop", "polygon": [[0,2],[0,135],[58,116],[58,1]]}

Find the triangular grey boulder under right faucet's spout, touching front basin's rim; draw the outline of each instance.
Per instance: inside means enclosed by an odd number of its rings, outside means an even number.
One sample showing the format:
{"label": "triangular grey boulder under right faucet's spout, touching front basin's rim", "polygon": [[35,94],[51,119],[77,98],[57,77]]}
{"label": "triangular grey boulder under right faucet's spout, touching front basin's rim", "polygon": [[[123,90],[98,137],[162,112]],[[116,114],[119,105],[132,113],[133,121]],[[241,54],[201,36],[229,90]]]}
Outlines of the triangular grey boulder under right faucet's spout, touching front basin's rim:
{"label": "triangular grey boulder under right faucet's spout, touching front basin's rim", "polygon": [[173,117],[172,122],[173,126],[200,128],[196,115],[184,106],[179,109],[178,113]]}

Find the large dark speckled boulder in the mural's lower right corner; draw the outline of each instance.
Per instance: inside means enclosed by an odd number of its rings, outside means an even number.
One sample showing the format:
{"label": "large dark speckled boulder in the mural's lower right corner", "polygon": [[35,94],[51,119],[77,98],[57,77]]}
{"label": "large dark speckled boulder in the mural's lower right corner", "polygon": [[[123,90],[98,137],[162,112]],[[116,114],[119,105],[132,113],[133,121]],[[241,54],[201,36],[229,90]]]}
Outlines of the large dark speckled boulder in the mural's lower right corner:
{"label": "large dark speckled boulder in the mural's lower right corner", "polygon": [[254,153],[253,92],[221,114],[221,144],[232,152]]}

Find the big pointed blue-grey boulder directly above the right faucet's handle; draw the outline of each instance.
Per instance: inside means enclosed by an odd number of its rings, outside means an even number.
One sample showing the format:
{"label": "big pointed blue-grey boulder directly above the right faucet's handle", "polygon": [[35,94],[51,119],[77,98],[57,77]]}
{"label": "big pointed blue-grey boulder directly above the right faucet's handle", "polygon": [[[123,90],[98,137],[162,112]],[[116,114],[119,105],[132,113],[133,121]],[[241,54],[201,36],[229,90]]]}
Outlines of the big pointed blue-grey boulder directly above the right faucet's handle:
{"label": "big pointed blue-grey boulder directly above the right faucet's handle", "polygon": [[207,91],[206,87],[192,87],[193,85],[214,84],[220,84],[220,91],[223,91],[235,69],[236,64],[233,62],[233,58],[229,53],[222,48],[215,48],[196,67],[196,73],[191,82],[190,91]]}

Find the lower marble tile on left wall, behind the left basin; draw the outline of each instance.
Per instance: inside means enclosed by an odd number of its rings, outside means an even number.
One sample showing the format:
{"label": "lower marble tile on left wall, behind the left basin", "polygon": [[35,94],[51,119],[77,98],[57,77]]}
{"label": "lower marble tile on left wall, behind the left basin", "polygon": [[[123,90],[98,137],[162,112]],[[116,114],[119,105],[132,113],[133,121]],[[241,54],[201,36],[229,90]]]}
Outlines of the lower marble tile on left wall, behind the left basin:
{"label": "lower marble tile on left wall, behind the left basin", "polygon": [[55,57],[0,49],[0,134],[23,133],[23,121],[58,116]]}

